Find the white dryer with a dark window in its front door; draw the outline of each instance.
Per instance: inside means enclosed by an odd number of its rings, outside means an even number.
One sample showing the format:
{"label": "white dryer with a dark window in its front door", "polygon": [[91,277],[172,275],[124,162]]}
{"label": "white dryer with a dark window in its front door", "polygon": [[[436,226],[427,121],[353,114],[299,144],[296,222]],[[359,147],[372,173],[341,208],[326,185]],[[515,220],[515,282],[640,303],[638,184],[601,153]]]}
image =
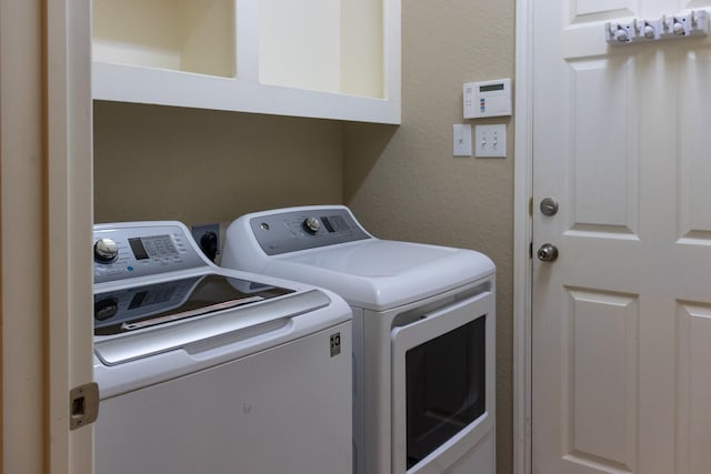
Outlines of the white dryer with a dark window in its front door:
{"label": "white dryer with a dark window in its front door", "polygon": [[221,265],[328,288],[351,305],[354,473],[495,472],[489,258],[375,239],[332,205],[237,219]]}

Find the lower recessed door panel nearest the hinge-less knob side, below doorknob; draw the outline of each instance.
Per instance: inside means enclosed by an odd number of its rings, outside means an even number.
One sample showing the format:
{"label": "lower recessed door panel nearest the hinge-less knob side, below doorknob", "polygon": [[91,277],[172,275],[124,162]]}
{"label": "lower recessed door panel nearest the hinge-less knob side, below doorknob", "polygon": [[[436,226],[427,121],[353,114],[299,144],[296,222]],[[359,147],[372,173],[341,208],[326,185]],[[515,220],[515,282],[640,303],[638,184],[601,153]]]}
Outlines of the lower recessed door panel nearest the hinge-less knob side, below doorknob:
{"label": "lower recessed door panel nearest the hinge-less knob side, below doorknob", "polygon": [[[637,452],[638,299],[569,289],[568,307],[570,461],[632,472]],[[605,341],[605,351],[599,350],[600,341]]]}

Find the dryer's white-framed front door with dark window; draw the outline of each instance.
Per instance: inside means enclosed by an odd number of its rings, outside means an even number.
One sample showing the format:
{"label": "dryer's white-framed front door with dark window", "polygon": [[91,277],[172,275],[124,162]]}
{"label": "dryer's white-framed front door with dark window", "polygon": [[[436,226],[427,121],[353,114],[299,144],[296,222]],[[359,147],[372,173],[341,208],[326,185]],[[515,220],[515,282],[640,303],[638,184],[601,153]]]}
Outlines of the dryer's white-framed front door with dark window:
{"label": "dryer's white-framed front door with dark window", "polygon": [[393,474],[441,473],[492,431],[493,326],[483,291],[392,330]]}

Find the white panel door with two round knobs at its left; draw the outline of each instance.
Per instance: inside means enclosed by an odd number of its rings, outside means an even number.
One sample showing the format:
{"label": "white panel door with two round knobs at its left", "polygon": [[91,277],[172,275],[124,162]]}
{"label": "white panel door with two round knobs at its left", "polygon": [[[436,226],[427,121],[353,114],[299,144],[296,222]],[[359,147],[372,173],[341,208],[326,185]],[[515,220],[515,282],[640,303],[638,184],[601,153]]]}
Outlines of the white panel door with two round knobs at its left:
{"label": "white panel door with two round knobs at its left", "polygon": [[707,7],[534,8],[533,473],[710,470],[711,40],[604,41]]}

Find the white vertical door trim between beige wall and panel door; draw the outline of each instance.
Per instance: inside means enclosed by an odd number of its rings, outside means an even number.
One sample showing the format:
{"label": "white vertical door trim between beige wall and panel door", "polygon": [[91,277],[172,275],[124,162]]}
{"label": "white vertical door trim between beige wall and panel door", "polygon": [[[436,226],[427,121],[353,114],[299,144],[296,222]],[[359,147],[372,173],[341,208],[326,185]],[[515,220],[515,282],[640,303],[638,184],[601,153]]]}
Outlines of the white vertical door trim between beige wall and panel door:
{"label": "white vertical door trim between beige wall and panel door", "polygon": [[513,204],[513,473],[531,473],[531,259],[533,6],[515,2]]}

